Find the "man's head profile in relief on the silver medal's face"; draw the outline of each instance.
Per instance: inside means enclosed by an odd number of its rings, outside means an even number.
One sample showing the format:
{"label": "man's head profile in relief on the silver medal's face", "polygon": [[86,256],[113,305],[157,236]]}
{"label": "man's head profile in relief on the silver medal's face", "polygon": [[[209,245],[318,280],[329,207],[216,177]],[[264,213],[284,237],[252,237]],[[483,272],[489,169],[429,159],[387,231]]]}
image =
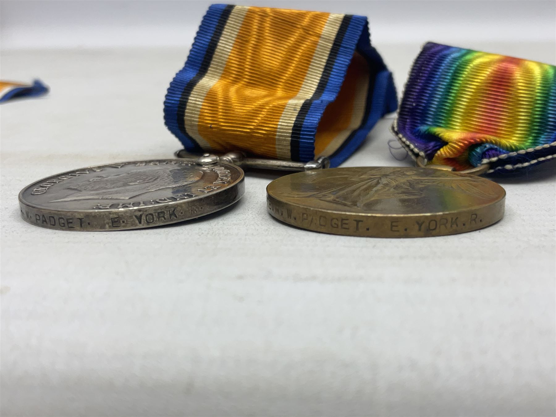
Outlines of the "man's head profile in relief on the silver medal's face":
{"label": "man's head profile in relief on the silver medal's face", "polygon": [[200,180],[203,171],[193,167],[153,166],[111,175],[99,175],[72,184],[67,188],[76,192],[59,200],[128,200],[150,191],[187,186]]}

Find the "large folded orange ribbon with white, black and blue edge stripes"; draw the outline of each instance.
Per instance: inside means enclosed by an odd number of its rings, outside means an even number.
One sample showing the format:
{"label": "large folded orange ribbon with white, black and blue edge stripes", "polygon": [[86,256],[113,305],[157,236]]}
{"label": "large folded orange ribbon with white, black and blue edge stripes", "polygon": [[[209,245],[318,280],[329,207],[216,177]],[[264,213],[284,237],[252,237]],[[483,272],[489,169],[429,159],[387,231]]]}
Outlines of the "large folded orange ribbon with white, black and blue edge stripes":
{"label": "large folded orange ribbon with white, black and blue edge stripes", "polygon": [[210,6],[164,102],[190,152],[244,151],[339,165],[396,110],[365,17]]}

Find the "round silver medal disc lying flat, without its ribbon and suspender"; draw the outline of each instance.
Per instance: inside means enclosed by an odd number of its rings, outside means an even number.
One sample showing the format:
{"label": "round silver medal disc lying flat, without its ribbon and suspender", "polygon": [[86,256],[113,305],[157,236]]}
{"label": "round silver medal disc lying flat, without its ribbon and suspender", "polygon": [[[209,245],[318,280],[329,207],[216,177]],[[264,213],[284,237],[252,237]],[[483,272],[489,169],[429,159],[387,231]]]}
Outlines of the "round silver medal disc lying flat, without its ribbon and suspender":
{"label": "round silver medal disc lying flat, without its ribbon and suspender", "polygon": [[19,193],[19,211],[49,229],[141,229],[210,214],[243,193],[244,173],[229,163],[133,161],[43,178]]}

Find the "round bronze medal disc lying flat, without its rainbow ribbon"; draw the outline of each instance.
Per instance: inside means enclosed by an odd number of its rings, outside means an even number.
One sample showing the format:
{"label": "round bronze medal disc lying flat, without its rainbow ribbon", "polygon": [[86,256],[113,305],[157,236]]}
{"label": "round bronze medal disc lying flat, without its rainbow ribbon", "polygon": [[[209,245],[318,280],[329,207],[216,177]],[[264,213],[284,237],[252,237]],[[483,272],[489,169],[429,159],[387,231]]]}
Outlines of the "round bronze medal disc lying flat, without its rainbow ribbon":
{"label": "round bronze medal disc lying flat, without its rainbow ribbon", "polygon": [[452,235],[492,225],[504,215],[505,191],[497,183],[431,168],[298,172],[272,181],[266,192],[276,219],[336,235]]}

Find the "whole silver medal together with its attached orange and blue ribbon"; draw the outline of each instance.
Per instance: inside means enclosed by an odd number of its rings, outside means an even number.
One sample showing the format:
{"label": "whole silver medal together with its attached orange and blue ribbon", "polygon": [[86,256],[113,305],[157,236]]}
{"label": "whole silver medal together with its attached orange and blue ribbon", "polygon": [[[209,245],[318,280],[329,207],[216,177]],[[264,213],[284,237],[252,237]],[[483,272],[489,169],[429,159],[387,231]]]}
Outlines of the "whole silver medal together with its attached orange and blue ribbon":
{"label": "whole silver medal together with its attached orange and blue ribbon", "polygon": [[[200,217],[239,200],[242,167],[338,165],[397,100],[365,17],[216,4],[168,88],[167,127],[188,160],[112,163],[19,194],[27,222],[123,230]],[[232,152],[230,152],[232,151]]]}

